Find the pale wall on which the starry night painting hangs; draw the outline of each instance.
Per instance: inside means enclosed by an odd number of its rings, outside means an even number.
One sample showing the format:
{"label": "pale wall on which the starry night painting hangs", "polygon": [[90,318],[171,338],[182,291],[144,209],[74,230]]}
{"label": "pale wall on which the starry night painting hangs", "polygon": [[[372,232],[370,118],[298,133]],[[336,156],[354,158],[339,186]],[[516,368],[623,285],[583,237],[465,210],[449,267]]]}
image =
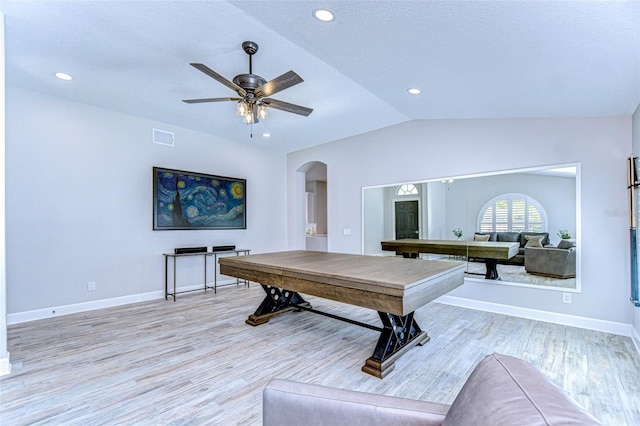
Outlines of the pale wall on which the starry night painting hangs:
{"label": "pale wall on which the starry night painting hangs", "polygon": [[[10,316],[163,291],[162,253],[175,247],[286,248],[286,158],[263,142],[238,144],[17,88],[7,89],[6,116]],[[153,144],[154,127],[175,132],[175,147]],[[247,229],[153,231],[153,166],[247,179]],[[186,260],[179,284],[199,284],[201,265]]]}

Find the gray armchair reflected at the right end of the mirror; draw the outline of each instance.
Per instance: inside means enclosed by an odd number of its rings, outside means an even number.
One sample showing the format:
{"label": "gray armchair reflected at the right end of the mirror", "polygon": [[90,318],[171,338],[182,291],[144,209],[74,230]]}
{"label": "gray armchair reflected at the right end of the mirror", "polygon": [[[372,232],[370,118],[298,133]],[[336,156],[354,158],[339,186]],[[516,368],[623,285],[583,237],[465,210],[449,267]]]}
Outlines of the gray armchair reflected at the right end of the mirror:
{"label": "gray armchair reflected at the right end of the mirror", "polygon": [[535,275],[552,278],[576,276],[576,241],[562,240],[558,247],[526,247],[524,269]]}

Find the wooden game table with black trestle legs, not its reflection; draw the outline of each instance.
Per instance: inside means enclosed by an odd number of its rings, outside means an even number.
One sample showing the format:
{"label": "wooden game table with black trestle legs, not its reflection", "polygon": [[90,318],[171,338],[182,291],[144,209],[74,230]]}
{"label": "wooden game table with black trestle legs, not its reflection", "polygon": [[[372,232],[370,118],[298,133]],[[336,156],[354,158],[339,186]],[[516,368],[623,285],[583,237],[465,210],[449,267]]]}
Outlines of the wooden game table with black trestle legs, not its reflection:
{"label": "wooden game table with black trestle legs, not its reflection", "polygon": [[[313,251],[225,257],[220,273],[262,285],[266,296],[249,315],[257,326],[274,315],[306,310],[380,332],[362,371],[383,378],[406,351],[429,340],[414,318],[421,306],[464,283],[458,262],[415,261]],[[300,293],[378,311],[382,327],[315,310]]]}

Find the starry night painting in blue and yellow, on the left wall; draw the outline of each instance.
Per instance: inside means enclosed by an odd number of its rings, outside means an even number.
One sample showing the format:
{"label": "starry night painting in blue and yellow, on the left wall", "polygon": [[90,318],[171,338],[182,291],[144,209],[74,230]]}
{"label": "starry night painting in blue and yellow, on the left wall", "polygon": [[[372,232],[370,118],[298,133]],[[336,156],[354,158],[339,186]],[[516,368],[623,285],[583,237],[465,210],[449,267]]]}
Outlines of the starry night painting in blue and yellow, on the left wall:
{"label": "starry night painting in blue and yellow, on the left wall", "polygon": [[153,168],[153,229],[246,229],[247,181]]}

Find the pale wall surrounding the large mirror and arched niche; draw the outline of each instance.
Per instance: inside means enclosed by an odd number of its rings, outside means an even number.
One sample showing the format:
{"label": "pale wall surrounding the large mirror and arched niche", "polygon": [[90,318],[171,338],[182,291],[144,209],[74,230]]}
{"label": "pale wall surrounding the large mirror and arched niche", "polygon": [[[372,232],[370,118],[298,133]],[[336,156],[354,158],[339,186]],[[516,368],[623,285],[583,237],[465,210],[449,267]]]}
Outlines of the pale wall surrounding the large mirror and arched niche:
{"label": "pale wall surrounding the large mirror and arched niche", "polygon": [[[296,215],[295,171],[328,166],[329,251],[362,250],[362,187],[580,162],[582,293],[563,304],[543,289],[469,282],[451,295],[631,324],[625,159],[631,117],[420,120],[290,153],[288,212]],[[411,153],[411,155],[408,155]],[[296,194],[297,197],[293,196]],[[289,240],[295,229],[289,226]],[[351,229],[346,236],[344,229]],[[290,245],[290,248],[294,248]]]}

